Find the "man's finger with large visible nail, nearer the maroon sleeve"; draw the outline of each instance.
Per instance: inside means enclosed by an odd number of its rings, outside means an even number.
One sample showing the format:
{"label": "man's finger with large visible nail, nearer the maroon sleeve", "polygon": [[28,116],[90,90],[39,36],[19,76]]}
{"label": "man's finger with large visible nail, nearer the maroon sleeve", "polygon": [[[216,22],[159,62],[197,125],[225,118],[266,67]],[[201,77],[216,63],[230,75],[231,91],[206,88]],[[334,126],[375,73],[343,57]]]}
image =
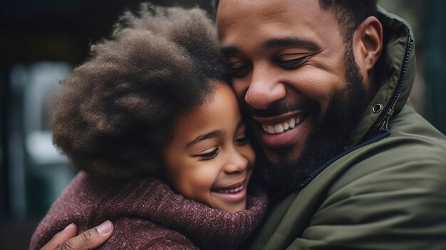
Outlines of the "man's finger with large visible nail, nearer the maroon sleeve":
{"label": "man's finger with large visible nail, nearer the maroon sleeve", "polygon": [[82,234],[65,241],[61,250],[87,250],[95,249],[107,241],[113,233],[113,224],[105,221],[93,229],[88,229]]}

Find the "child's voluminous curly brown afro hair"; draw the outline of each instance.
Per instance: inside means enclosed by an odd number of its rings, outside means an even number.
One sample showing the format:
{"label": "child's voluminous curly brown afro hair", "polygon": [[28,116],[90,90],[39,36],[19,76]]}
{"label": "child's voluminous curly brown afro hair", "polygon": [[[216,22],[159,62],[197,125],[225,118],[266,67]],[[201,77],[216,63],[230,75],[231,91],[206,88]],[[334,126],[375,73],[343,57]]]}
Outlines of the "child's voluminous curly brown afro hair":
{"label": "child's voluminous curly brown afro hair", "polygon": [[51,100],[54,144],[96,177],[160,177],[175,119],[229,82],[214,24],[201,9],[142,4],[90,53]]}

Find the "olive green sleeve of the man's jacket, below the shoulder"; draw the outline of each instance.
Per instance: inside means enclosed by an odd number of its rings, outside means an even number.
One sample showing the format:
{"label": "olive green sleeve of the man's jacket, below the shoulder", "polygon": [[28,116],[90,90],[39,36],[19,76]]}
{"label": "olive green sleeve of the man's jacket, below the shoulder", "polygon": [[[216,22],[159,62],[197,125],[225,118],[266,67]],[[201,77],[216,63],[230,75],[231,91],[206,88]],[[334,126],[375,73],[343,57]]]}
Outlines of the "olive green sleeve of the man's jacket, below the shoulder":
{"label": "olive green sleeve of the man's jacket, below the shoulder", "polygon": [[383,152],[373,171],[376,159],[363,160],[288,249],[446,249],[446,167],[435,155]]}

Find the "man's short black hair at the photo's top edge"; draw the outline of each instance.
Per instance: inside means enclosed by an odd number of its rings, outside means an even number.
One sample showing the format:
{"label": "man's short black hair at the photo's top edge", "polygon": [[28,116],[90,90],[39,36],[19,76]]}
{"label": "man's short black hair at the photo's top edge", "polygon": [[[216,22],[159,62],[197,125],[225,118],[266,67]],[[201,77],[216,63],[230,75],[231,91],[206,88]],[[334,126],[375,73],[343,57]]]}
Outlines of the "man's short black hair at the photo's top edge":
{"label": "man's short black hair at the photo's top edge", "polygon": [[[338,20],[343,41],[351,43],[351,38],[356,28],[368,16],[376,16],[377,0],[318,0],[319,6],[324,11],[331,11]],[[219,0],[212,1],[214,16],[217,15]]]}

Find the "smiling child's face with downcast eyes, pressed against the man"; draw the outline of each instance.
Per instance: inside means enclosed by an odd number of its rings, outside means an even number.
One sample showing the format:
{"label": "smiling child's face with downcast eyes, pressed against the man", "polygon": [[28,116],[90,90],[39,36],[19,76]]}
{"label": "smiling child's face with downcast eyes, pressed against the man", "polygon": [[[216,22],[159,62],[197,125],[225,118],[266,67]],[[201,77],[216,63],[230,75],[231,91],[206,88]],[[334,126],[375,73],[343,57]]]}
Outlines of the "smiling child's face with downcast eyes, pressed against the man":
{"label": "smiling child's face with downcast eyes, pressed against the man", "polygon": [[177,123],[163,151],[166,177],[189,199],[237,212],[246,208],[254,150],[232,89],[219,83],[211,98]]}

